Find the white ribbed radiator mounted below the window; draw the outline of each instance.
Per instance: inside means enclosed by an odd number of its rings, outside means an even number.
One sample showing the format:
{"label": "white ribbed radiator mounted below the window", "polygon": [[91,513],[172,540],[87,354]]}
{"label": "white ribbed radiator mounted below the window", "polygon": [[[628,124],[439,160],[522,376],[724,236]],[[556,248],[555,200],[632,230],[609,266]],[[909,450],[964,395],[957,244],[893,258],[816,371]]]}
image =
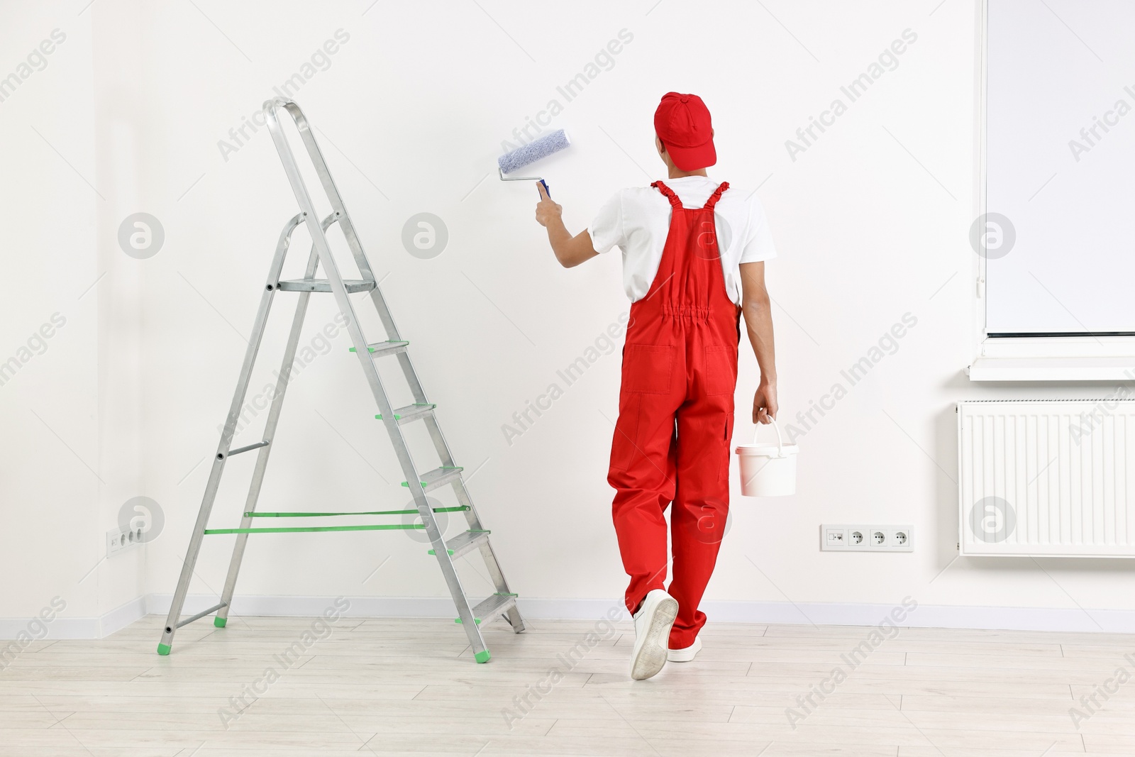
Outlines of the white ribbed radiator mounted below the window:
{"label": "white ribbed radiator mounted below the window", "polygon": [[1135,557],[1135,401],[957,410],[962,555]]}

